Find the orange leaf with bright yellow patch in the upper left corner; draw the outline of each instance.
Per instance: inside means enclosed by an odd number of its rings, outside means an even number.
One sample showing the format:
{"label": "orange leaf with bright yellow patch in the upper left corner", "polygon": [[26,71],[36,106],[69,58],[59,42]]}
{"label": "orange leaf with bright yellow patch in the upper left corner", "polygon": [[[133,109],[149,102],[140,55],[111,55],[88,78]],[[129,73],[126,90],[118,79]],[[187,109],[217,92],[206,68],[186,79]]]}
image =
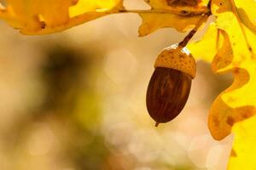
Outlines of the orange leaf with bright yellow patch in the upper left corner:
{"label": "orange leaf with bright yellow patch in the upper left corner", "polygon": [[122,0],[7,0],[0,19],[21,33],[36,35],[63,31],[123,8]]}

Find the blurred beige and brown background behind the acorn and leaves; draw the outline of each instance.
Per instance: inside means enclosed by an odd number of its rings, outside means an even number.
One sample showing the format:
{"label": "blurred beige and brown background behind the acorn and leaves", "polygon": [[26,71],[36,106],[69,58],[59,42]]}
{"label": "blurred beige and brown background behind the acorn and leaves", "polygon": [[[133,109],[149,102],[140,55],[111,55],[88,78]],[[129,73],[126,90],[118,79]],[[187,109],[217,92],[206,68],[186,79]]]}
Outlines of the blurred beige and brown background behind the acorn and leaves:
{"label": "blurred beige and brown background behind the acorn and leaves", "polygon": [[182,113],[154,127],[145,105],[154,59],[185,34],[137,37],[140,23],[113,14],[28,37],[0,21],[0,170],[225,169],[233,137],[212,139],[207,114],[232,79],[199,60]]}

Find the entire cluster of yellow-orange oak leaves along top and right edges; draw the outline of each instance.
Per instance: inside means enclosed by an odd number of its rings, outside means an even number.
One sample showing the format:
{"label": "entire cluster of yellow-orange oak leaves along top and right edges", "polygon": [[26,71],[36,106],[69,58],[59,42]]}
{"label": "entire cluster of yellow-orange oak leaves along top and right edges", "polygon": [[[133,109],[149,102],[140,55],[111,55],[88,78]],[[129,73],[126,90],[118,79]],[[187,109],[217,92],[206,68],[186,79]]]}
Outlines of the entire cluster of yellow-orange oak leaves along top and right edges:
{"label": "entire cluster of yellow-orange oak leaves along top and right edges", "polygon": [[[63,31],[107,14],[132,12],[142,17],[139,35],[146,36],[162,27],[188,31],[210,10],[209,0],[144,1],[151,9],[128,10],[123,0],[6,0],[0,7],[0,19],[21,33],[38,35]],[[213,102],[208,120],[214,139],[235,133],[230,169],[256,169],[255,9],[255,0],[212,0],[216,20],[201,41],[189,44],[195,58],[212,62],[212,71],[234,76],[230,88]]]}

